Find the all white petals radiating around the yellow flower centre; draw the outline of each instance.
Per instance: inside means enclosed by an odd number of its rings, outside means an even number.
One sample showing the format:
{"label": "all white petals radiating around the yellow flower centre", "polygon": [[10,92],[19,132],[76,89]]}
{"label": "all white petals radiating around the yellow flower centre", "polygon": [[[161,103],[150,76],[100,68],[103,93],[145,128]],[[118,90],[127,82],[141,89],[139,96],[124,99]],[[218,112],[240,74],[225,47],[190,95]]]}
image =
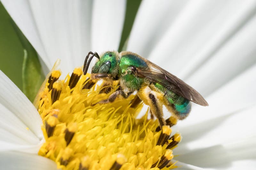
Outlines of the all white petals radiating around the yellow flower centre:
{"label": "all white petals radiating around the yellow flower centre", "polygon": [[[124,0],[1,1],[48,69],[60,58],[65,75],[81,66],[89,51],[118,48],[124,23]],[[209,107],[193,105],[190,116],[174,127],[173,131],[179,130],[183,136],[175,150],[179,153],[177,159],[194,165],[180,169],[254,169],[256,166],[255,8],[253,0],[144,0],[140,4],[127,50],[180,77],[209,103]],[[8,161],[19,159],[15,164],[25,166],[25,160],[31,163],[32,159],[43,159],[47,161],[44,166],[54,167],[51,160],[31,156],[37,153],[36,149],[24,153],[24,147],[40,144],[41,119],[3,73],[1,88],[5,90],[0,92],[3,131],[0,140],[3,144],[13,144],[1,146],[1,151],[6,151],[0,153],[1,165],[6,162],[5,166],[11,167]],[[33,121],[30,114],[36,117]],[[17,126],[11,122],[16,119]],[[29,130],[24,131],[21,126]],[[33,134],[27,134],[30,131]],[[35,166],[42,167],[41,164]]]}

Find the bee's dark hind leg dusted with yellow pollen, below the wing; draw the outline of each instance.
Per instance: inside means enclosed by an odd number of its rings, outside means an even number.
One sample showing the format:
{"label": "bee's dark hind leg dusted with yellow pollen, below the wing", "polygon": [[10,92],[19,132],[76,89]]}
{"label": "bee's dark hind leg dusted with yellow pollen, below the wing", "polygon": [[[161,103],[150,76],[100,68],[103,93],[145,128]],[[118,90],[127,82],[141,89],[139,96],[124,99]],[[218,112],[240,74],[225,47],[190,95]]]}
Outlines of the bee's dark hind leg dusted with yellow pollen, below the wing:
{"label": "bee's dark hind leg dusted with yellow pollen, below the wing", "polygon": [[151,109],[152,113],[156,116],[156,118],[159,122],[160,128],[162,129],[162,126],[166,125],[166,122],[164,119],[164,114],[163,114],[163,108],[161,108],[159,106],[159,103],[153,94],[149,93],[148,97],[150,99],[150,101],[149,101],[150,109]]}

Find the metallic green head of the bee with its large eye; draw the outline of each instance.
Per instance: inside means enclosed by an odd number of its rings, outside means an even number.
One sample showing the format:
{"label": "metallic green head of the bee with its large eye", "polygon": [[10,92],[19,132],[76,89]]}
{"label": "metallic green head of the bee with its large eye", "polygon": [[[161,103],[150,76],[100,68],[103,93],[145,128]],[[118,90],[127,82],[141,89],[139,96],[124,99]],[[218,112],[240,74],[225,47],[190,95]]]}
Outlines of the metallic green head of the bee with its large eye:
{"label": "metallic green head of the bee with its large eye", "polygon": [[108,51],[100,56],[100,60],[92,67],[92,73],[107,73],[112,77],[118,74],[118,52]]}

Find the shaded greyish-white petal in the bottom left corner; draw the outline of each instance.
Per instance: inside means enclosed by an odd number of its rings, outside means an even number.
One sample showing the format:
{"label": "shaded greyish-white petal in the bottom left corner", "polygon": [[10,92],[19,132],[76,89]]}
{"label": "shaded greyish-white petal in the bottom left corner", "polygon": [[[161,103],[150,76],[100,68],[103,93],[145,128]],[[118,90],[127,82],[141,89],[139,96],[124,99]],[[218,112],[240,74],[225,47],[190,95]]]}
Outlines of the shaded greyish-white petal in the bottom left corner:
{"label": "shaded greyish-white petal in the bottom left corner", "polygon": [[0,169],[53,170],[57,169],[57,166],[51,159],[38,155],[19,152],[0,152]]}

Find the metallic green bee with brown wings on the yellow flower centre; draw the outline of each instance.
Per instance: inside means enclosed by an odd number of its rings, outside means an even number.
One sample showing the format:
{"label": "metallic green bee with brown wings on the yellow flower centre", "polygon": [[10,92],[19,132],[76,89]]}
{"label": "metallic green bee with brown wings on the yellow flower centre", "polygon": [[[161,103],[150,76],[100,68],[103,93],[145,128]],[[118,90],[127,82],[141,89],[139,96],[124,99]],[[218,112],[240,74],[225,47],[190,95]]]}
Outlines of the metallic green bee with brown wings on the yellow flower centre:
{"label": "metallic green bee with brown wings on the yellow flower centre", "polygon": [[[92,56],[88,60],[90,54]],[[137,91],[136,94],[150,107],[161,128],[166,125],[163,105],[180,120],[188,116],[191,102],[208,106],[195,89],[136,53],[108,51],[99,56],[96,52],[89,52],[84,61],[84,75],[93,57],[97,57],[99,61],[92,67],[89,88],[92,87],[93,81],[99,79],[105,80],[105,85],[110,85],[113,81],[119,81],[120,84],[120,88],[108,99],[101,100],[97,104],[112,103],[120,95],[127,98]]]}

